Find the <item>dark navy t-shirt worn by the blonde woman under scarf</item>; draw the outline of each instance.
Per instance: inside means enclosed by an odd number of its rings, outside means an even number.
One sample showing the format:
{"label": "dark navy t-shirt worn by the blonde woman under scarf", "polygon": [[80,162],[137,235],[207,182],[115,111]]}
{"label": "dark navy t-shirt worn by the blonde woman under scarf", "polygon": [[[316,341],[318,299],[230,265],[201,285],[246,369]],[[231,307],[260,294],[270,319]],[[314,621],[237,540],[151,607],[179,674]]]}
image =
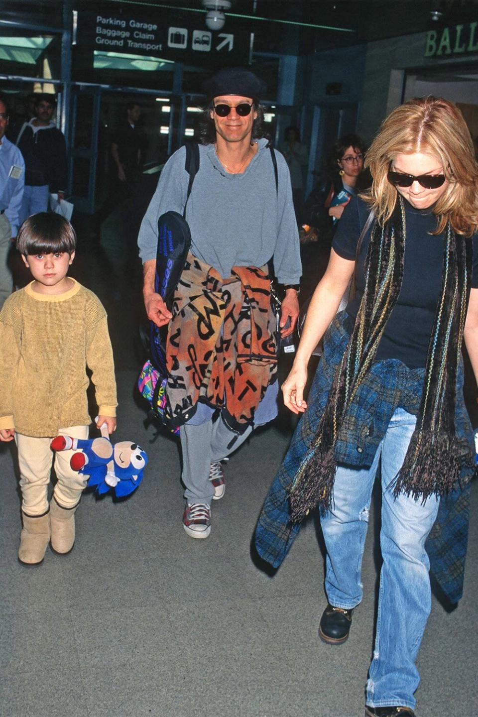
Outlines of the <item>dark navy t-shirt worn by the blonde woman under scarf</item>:
{"label": "dark navy t-shirt worn by the blonde woman under scarf", "polygon": [[[363,199],[353,197],[338,222],[332,248],[340,257],[355,260],[358,237],[370,212]],[[414,209],[405,201],[406,242],[403,282],[396,305],[388,319],[378,345],[376,361],[400,359],[411,369],[423,368],[434,326],[436,305],[441,293],[444,234],[430,234],[436,229],[431,209]],[[363,237],[358,257],[355,298],[348,304],[349,329],[358,312],[365,289],[364,261],[371,229]],[[472,287],[478,288],[478,234],[473,242]]]}

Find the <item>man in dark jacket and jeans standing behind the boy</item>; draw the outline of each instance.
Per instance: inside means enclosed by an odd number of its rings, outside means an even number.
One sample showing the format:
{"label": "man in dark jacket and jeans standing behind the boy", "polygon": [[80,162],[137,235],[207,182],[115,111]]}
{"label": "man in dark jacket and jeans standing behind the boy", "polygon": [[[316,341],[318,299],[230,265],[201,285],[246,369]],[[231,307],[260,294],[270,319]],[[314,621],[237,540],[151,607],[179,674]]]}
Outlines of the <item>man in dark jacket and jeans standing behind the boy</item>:
{"label": "man in dark jacket and jeans standing behind the boy", "polygon": [[67,185],[67,147],[62,132],[52,122],[54,95],[39,94],[34,101],[35,116],[24,122],[11,141],[25,160],[25,189],[19,222],[37,212],[46,212],[49,192],[64,198]]}

